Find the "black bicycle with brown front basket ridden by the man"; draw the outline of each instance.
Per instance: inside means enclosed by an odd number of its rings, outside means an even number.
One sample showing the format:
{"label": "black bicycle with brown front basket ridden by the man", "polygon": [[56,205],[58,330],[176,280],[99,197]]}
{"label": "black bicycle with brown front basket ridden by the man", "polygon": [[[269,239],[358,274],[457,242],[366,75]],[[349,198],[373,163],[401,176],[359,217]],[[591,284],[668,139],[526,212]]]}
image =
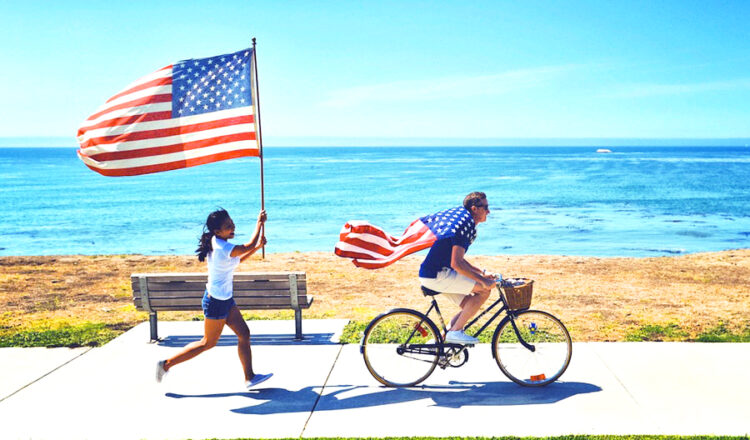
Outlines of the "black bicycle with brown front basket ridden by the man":
{"label": "black bicycle with brown front basket ridden by the man", "polygon": [[[565,325],[555,316],[529,309],[532,280],[498,280],[499,298],[465,326],[465,331],[502,304],[472,336],[478,338],[503,312],[492,336],[492,357],[513,382],[529,387],[556,381],[570,364],[573,345]],[[518,284],[520,280],[523,285]],[[410,387],[427,379],[437,366],[458,368],[469,360],[472,345],[446,343],[445,321],[436,295],[422,287],[432,300],[426,313],[396,308],[375,317],[365,328],[360,353],[370,374],[390,387]],[[443,332],[429,318],[435,310]]]}

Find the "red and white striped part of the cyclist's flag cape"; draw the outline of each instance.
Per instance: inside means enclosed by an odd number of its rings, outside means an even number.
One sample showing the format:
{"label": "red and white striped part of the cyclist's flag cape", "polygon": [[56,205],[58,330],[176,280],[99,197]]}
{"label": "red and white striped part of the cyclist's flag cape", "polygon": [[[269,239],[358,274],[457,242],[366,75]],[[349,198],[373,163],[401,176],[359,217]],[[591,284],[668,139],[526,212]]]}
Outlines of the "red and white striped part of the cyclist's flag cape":
{"label": "red and white striped part of the cyclist's flag cape", "polygon": [[339,257],[352,258],[357,267],[379,269],[429,248],[436,239],[421,219],[414,220],[398,238],[368,222],[349,221],[341,229],[335,253]]}

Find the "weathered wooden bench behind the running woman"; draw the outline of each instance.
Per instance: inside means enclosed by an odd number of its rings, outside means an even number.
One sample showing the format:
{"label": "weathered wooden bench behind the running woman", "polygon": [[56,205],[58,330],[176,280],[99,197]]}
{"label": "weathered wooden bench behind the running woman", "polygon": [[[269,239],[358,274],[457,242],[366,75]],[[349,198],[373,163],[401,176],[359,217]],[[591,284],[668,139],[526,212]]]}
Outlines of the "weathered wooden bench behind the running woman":
{"label": "weathered wooden bench behind the running woman", "polygon": [[[205,273],[134,273],[130,275],[133,302],[149,314],[151,340],[159,339],[156,328],[158,311],[202,310],[206,290]],[[302,309],[310,308],[313,297],[307,295],[304,272],[236,272],[234,301],[240,310],[294,310],[295,338],[302,339]]]}

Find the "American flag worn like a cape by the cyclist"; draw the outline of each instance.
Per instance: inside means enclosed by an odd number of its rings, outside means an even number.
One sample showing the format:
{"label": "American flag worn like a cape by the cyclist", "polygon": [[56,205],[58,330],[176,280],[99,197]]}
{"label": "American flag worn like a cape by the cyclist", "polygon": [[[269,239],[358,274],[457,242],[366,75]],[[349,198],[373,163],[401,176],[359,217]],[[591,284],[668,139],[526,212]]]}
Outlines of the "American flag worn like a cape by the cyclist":
{"label": "American flag worn like a cape by the cyclist", "polygon": [[474,219],[463,206],[418,218],[398,238],[370,223],[349,221],[341,229],[334,252],[339,257],[352,258],[357,267],[379,269],[453,236],[469,243],[477,237]]}

